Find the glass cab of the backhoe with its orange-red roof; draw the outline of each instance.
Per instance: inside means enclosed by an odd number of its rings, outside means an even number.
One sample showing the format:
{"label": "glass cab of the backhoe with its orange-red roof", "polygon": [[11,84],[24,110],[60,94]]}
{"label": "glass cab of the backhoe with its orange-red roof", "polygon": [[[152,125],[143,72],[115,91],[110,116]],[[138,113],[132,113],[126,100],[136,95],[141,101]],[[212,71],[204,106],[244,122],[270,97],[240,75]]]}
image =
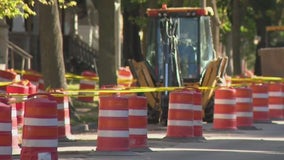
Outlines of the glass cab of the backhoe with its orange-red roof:
{"label": "glass cab of the backhoe with its orange-red roof", "polygon": [[148,9],[146,61],[155,79],[167,86],[198,82],[215,58],[211,8]]}

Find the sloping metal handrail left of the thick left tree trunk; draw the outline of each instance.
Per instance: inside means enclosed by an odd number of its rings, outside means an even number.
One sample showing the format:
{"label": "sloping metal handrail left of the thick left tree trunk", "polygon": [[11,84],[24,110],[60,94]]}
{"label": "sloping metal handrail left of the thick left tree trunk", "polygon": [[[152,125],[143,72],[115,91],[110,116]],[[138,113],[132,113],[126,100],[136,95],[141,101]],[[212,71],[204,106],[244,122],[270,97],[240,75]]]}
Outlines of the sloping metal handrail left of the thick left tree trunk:
{"label": "sloping metal handrail left of the thick left tree trunk", "polygon": [[21,69],[24,70],[25,66],[26,66],[26,69],[31,69],[31,59],[33,58],[33,56],[30,55],[27,51],[23,50],[21,47],[19,47],[18,45],[14,44],[11,41],[7,41],[7,44],[8,44],[8,48],[11,51],[11,59],[10,59],[11,60],[11,67],[12,68],[15,67],[14,53],[17,53],[18,55],[20,55],[22,57]]}

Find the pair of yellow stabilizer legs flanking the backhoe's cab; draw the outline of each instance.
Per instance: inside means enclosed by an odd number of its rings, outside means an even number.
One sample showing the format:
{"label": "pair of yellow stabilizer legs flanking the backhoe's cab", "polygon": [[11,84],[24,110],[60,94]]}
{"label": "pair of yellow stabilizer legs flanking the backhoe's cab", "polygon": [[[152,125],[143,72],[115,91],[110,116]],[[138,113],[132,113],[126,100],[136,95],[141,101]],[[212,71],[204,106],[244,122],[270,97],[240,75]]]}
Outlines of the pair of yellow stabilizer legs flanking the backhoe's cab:
{"label": "pair of yellow stabilizer legs flanking the backhoe's cab", "polygon": [[[210,122],[213,120],[214,91],[216,87],[225,84],[224,76],[227,68],[227,61],[227,57],[219,57],[211,61],[201,78],[199,87],[202,89],[203,118],[205,121]],[[131,59],[128,62],[131,72],[134,78],[137,80],[139,86],[157,87],[145,61],[137,62]],[[161,93],[146,92],[144,94],[148,100],[149,108],[153,111],[161,112]],[[157,118],[158,117],[156,117],[156,119]]]}

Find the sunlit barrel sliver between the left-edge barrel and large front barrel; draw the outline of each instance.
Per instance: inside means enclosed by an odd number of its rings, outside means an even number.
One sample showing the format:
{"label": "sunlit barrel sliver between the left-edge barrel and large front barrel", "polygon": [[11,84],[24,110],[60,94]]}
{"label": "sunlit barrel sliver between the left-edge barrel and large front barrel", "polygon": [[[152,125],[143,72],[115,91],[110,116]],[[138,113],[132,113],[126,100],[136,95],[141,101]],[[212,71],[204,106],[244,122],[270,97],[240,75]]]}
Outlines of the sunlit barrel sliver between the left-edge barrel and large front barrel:
{"label": "sunlit barrel sliver between the left-edge barrel and large front barrel", "polygon": [[12,149],[13,154],[19,154],[21,148],[19,147],[19,134],[17,125],[17,110],[15,98],[0,97],[0,102],[9,105],[11,107],[11,118],[12,118]]}

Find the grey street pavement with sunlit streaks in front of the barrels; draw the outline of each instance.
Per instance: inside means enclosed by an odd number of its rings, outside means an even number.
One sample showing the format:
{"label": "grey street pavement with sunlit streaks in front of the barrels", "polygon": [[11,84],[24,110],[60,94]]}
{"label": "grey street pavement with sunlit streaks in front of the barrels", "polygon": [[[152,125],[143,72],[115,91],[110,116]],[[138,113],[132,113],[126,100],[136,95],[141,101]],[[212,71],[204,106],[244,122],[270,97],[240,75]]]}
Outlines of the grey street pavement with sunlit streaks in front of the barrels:
{"label": "grey street pavement with sunlit streaks in front of the barrels", "polygon": [[148,125],[148,147],[126,152],[96,151],[96,130],[90,130],[60,141],[58,155],[59,160],[283,160],[284,120],[254,126],[229,131],[209,123],[203,124],[203,138],[170,139],[166,127]]}

